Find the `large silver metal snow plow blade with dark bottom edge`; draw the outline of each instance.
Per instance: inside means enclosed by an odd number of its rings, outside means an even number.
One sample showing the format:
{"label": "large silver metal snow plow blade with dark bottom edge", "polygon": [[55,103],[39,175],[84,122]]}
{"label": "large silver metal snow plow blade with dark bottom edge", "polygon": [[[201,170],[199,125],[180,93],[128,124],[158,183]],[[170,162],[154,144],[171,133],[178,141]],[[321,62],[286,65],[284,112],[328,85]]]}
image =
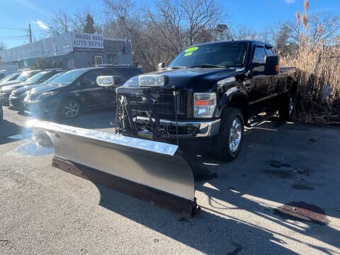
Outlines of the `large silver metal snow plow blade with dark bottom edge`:
{"label": "large silver metal snow plow blade with dark bottom edge", "polygon": [[198,212],[191,166],[176,145],[31,120],[55,147],[52,166],[161,208]]}

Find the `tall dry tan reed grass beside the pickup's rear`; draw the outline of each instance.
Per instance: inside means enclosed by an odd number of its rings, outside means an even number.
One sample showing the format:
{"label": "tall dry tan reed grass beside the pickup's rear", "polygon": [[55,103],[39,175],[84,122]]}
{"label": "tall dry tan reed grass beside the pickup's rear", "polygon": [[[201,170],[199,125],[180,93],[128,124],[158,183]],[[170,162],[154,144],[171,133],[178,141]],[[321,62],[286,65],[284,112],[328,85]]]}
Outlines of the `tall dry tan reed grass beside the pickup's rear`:
{"label": "tall dry tan reed grass beside the pickup's rear", "polygon": [[[281,65],[297,68],[295,117],[305,123],[340,124],[340,38],[334,35],[327,43],[310,40],[308,8],[306,0],[299,49],[281,58]],[[296,18],[300,25],[299,13]]]}

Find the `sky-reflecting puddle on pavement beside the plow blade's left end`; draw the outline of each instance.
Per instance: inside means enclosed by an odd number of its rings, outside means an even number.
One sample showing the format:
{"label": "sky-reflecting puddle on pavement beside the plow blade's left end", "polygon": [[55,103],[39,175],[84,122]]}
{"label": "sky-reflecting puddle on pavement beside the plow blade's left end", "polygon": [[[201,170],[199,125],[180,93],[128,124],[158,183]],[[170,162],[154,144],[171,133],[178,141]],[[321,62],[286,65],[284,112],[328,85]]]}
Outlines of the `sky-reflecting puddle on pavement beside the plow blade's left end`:
{"label": "sky-reflecting puddle on pavement beside the plow blade's left end", "polygon": [[7,138],[12,140],[26,140],[23,145],[19,145],[12,151],[7,152],[7,154],[37,157],[54,152],[52,142],[44,132],[33,133],[30,130],[25,130],[23,134],[12,135]]}

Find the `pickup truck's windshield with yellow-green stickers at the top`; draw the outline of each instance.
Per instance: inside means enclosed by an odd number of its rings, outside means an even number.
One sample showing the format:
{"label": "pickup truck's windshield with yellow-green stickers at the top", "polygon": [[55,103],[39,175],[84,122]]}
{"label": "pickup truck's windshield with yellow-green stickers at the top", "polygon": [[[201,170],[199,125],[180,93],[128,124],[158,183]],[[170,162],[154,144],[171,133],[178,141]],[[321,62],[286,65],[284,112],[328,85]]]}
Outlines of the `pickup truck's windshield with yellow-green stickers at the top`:
{"label": "pickup truck's windshield with yellow-green stickers at the top", "polygon": [[242,67],[246,59],[246,42],[219,42],[189,47],[169,64],[171,67],[198,67],[204,64]]}

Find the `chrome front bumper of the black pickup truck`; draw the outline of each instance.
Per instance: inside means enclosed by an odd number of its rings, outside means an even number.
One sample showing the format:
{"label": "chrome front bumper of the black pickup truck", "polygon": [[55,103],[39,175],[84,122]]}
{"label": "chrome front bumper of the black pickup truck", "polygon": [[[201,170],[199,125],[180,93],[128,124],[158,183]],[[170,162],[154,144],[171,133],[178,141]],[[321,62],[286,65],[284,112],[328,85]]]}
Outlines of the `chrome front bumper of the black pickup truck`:
{"label": "chrome front bumper of the black pickup truck", "polygon": [[[147,124],[149,118],[137,117],[134,119],[136,123]],[[154,122],[155,120],[152,119]],[[202,120],[202,121],[173,121],[173,120],[159,120],[160,125],[166,131],[169,138],[176,138],[176,125],[181,138],[192,137],[213,137],[218,134],[220,130],[221,120]]]}

